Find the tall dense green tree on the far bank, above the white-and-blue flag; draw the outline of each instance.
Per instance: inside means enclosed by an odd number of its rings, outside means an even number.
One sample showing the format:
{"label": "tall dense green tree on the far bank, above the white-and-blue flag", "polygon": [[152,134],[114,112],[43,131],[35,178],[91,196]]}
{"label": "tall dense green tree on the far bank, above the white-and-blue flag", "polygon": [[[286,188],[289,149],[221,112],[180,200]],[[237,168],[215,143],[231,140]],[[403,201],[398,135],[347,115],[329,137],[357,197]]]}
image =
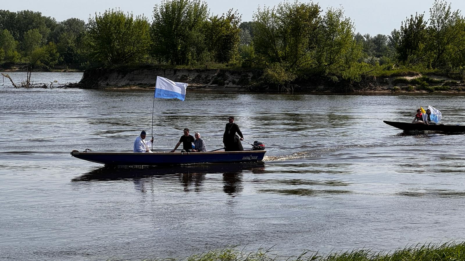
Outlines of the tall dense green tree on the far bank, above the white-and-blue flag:
{"label": "tall dense green tree on the far bank, above the white-and-blue flag", "polygon": [[196,62],[206,48],[199,39],[205,36],[207,13],[206,2],[200,0],[163,0],[155,5],[150,28],[153,56],[172,65]]}

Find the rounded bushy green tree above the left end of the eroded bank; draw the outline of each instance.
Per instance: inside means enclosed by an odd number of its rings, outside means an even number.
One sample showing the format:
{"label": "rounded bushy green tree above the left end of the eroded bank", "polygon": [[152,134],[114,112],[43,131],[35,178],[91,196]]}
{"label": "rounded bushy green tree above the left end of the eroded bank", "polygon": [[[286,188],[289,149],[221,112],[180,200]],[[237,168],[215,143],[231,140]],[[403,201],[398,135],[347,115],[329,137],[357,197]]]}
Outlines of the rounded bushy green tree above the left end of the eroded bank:
{"label": "rounded bushy green tree above the left end of the eroded bank", "polygon": [[106,65],[145,61],[150,45],[149,24],[144,16],[107,10],[89,19],[93,55]]}

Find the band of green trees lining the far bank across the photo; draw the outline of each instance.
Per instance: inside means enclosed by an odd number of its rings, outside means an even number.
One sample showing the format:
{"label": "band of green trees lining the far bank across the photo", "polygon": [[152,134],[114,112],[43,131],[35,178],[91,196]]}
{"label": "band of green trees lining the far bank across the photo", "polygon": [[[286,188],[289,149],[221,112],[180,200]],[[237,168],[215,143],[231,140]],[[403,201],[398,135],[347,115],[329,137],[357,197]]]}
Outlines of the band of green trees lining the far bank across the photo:
{"label": "band of green trees lining the far bank across the photo", "polygon": [[465,20],[443,0],[434,1],[429,20],[416,13],[376,36],[355,33],[341,8],[324,12],[313,2],[262,7],[249,22],[233,9],[221,16],[208,10],[200,0],[163,0],[152,21],[111,9],[87,23],[0,10],[0,65],[260,68],[279,85],[310,74],[356,82],[398,68],[465,70]]}

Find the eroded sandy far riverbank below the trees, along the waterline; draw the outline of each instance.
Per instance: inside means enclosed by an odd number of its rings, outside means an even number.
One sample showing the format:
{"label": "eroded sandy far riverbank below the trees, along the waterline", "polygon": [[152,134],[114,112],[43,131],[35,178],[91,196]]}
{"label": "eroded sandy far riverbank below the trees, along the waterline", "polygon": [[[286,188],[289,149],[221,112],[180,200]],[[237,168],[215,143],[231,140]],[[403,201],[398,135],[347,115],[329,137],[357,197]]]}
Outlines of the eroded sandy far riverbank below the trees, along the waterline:
{"label": "eroded sandy far riverbank below the trees, along the waterline", "polygon": [[188,89],[239,92],[293,93],[465,93],[465,84],[439,75],[409,72],[401,76],[366,76],[358,83],[328,82],[321,78],[298,78],[291,85],[269,85],[261,70],[219,69],[93,69],[86,70],[76,87],[95,89],[153,89],[157,76],[186,82]]}

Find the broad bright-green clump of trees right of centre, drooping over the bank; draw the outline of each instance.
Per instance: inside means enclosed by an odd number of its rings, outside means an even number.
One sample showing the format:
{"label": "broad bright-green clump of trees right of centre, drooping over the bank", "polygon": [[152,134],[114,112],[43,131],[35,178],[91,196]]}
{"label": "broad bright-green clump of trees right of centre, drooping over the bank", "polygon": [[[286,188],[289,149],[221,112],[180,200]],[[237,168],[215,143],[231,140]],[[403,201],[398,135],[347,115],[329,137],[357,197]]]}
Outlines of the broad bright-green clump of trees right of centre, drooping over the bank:
{"label": "broad bright-green clump of trees right of centre, drooping over the bank", "polygon": [[253,19],[254,54],[265,65],[283,63],[291,70],[339,75],[349,81],[359,81],[367,66],[359,63],[363,45],[354,39],[353,24],[342,9],[329,8],[321,14],[312,2],[282,2],[259,9]]}

